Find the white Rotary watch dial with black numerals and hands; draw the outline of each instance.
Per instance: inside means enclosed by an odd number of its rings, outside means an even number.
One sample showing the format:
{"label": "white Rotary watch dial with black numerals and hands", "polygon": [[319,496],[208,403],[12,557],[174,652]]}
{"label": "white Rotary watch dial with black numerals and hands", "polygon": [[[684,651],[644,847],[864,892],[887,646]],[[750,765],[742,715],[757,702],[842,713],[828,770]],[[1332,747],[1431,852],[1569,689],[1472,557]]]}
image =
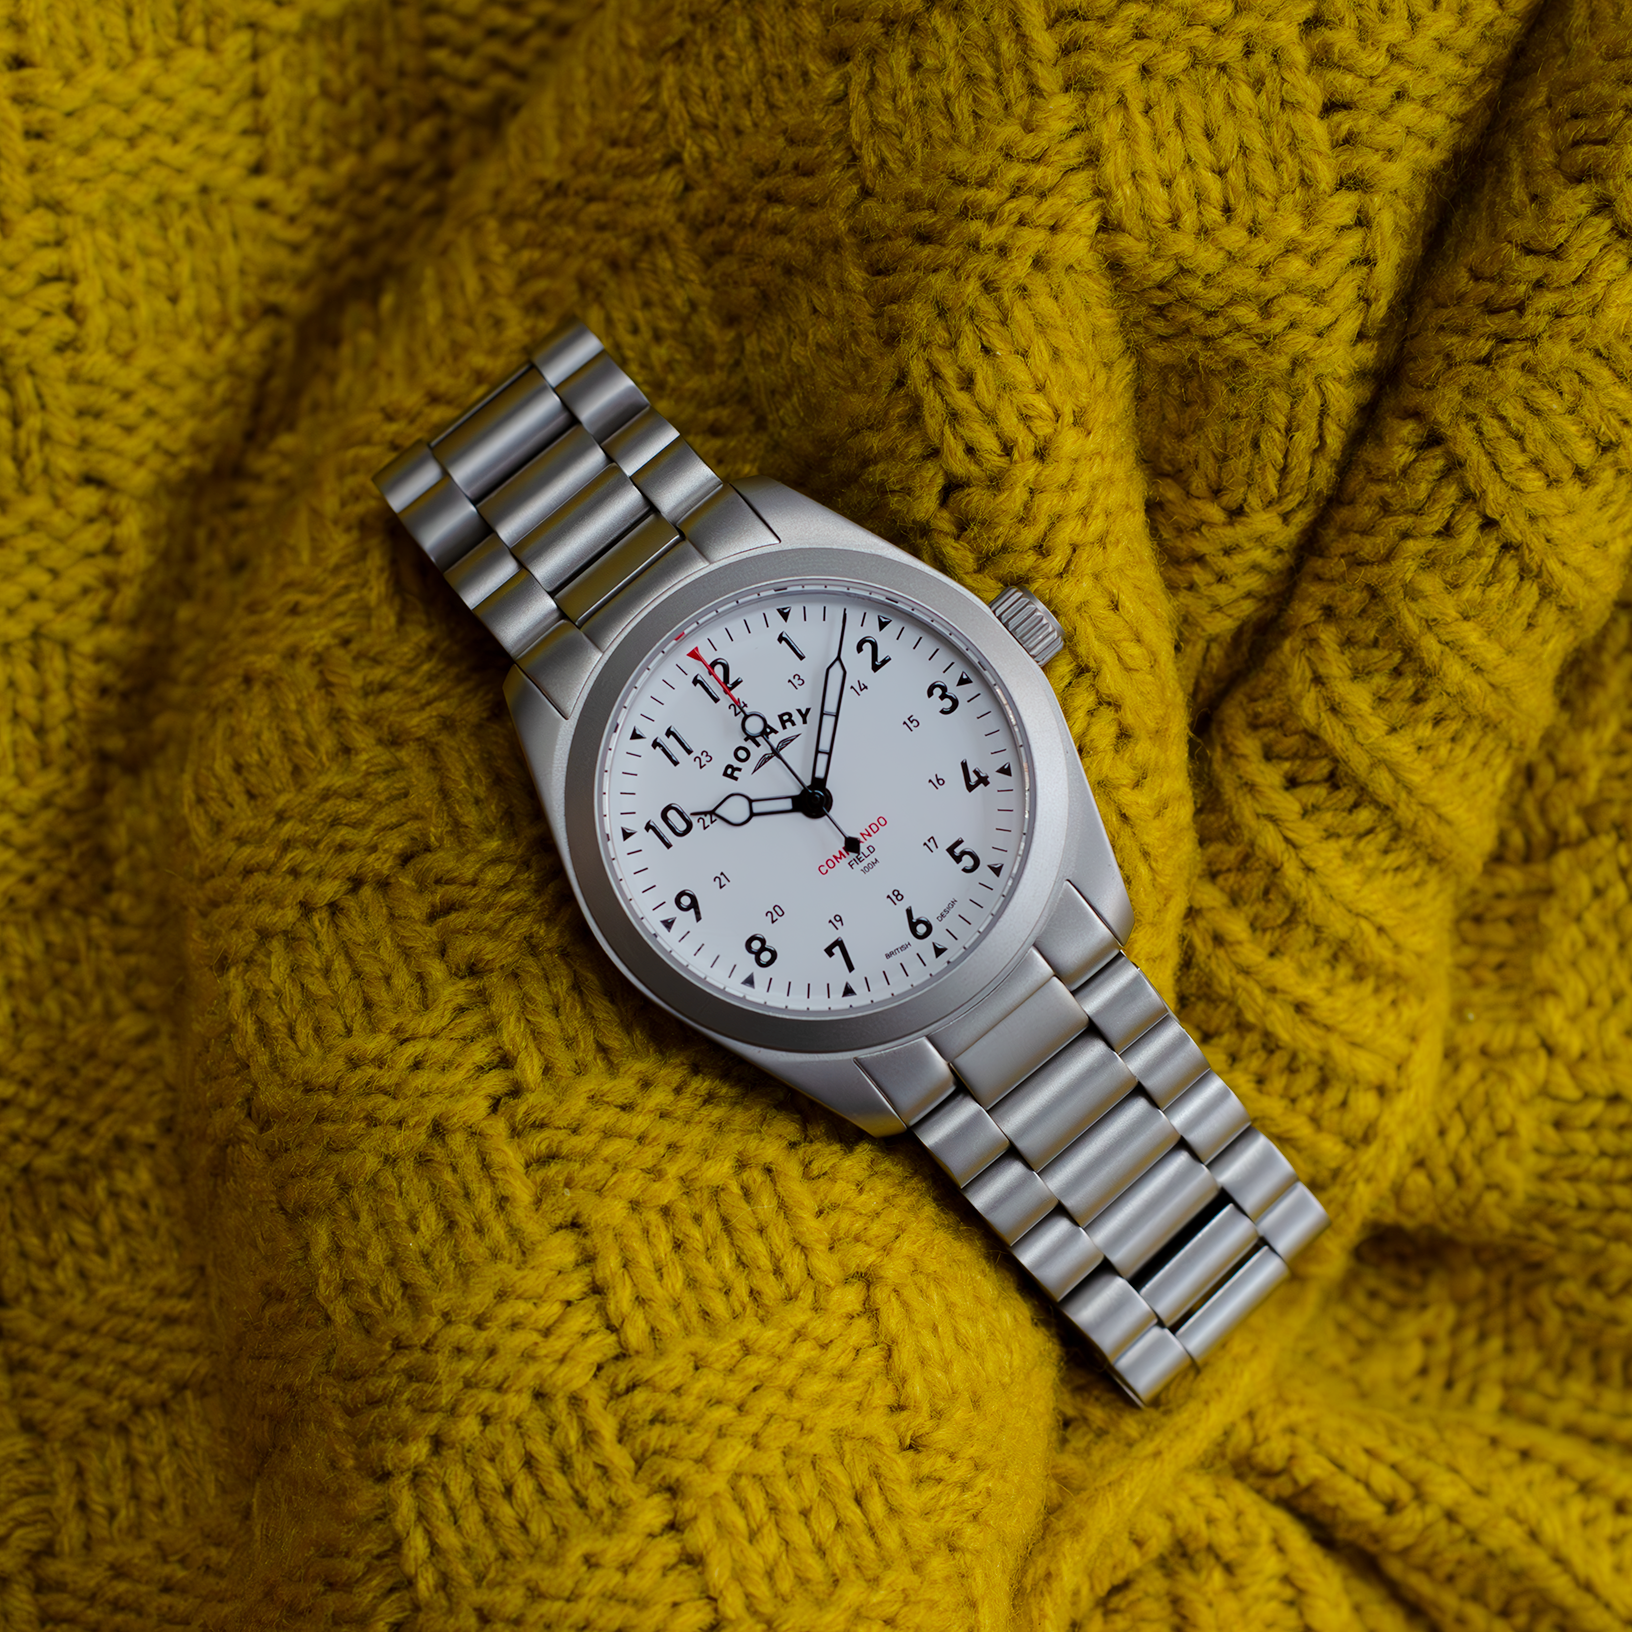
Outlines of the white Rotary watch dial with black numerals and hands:
{"label": "white Rotary watch dial with black numerals and hands", "polygon": [[738,1002],[845,1010],[958,963],[1020,865],[1030,764],[978,656],[842,583],[721,602],[630,681],[599,824],[635,922]]}

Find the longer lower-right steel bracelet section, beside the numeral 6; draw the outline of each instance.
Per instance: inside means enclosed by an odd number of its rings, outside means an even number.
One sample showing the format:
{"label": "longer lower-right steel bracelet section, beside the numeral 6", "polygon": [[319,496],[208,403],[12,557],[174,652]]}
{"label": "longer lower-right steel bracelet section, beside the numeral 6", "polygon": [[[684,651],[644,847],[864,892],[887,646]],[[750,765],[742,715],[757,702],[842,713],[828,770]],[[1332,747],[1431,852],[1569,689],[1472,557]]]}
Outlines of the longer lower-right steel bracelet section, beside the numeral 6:
{"label": "longer lower-right steel bracelet section, beside the numeral 6", "polygon": [[1327,1227],[1069,883],[974,1010],[858,1064],[1141,1405]]}

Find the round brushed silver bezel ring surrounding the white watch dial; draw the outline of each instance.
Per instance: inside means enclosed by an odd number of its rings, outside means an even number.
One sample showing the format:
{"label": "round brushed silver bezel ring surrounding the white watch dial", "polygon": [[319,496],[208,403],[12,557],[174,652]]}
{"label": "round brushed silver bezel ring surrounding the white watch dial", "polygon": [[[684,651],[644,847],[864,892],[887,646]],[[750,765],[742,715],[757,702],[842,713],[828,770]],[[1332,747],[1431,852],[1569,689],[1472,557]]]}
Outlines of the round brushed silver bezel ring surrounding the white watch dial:
{"label": "round brushed silver bezel ring surrounding the white watch dial", "polygon": [[[857,529],[860,532],[860,529]],[[787,542],[720,561],[682,581],[622,633],[573,710],[563,787],[565,845],[596,938],[648,997],[690,1025],[752,1048],[796,1054],[862,1053],[922,1036],[997,984],[1031,945],[1062,871],[1072,785],[1082,770],[1041,669],[961,584],[883,540]],[[800,583],[852,583],[916,602],[978,651],[1013,705],[1028,751],[1031,831],[1005,906],[978,945],[940,979],[863,1010],[787,1012],[733,1002],[671,963],[646,937],[612,876],[601,844],[597,790],[607,726],[630,679],[676,628],[738,596]]]}

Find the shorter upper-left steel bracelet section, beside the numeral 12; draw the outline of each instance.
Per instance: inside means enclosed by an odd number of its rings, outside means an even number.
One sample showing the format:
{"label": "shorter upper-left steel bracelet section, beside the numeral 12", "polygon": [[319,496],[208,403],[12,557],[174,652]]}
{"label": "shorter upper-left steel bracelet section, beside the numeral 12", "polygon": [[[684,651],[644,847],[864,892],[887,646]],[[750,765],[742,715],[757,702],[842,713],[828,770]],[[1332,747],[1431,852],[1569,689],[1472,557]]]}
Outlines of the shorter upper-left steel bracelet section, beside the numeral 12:
{"label": "shorter upper-left steel bracelet section, beside the numeral 12", "polygon": [[374,481],[563,715],[671,584],[775,543],[583,323]]}

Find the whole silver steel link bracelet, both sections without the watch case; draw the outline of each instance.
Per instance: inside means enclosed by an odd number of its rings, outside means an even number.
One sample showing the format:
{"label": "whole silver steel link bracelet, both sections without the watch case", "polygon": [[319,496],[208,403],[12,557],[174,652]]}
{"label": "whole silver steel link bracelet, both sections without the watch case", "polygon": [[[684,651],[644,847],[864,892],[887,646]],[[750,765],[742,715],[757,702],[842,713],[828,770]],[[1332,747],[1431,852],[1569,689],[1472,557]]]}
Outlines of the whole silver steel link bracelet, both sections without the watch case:
{"label": "whole silver steel link bracelet, both sections without the watch case", "polygon": [[[375,481],[561,715],[671,584],[775,542],[581,323]],[[857,1064],[1139,1404],[1328,1222],[1071,883],[973,1010]]]}

